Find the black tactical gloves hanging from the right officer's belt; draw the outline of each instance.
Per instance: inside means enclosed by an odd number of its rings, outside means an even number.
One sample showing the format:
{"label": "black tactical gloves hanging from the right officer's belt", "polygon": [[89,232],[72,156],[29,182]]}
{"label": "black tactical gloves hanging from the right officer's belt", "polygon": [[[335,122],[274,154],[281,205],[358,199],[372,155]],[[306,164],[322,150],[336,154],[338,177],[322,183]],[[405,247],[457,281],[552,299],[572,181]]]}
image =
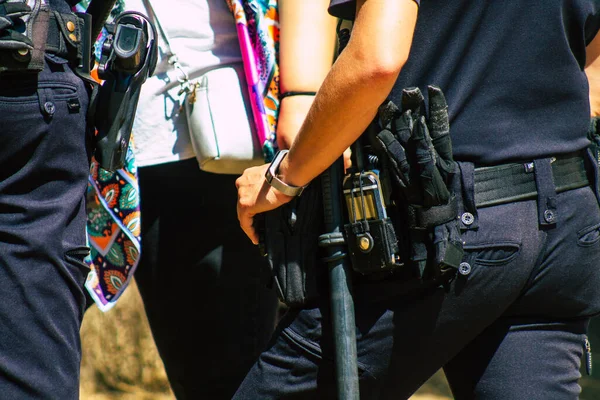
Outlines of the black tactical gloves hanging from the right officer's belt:
{"label": "black tactical gloves hanging from the right officer's belt", "polygon": [[428,93],[428,117],[418,88],[403,90],[402,111],[392,102],[383,106],[384,129],[371,141],[391,171],[395,201],[406,216],[410,259],[422,277],[439,279],[454,273],[463,254],[450,189],[458,165],[445,97],[435,86]]}

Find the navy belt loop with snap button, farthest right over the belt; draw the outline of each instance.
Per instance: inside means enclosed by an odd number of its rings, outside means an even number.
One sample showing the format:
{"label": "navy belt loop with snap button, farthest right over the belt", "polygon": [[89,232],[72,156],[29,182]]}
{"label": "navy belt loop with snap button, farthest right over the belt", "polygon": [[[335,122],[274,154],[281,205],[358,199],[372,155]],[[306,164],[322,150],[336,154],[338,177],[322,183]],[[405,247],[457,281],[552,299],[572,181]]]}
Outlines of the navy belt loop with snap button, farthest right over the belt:
{"label": "navy belt loop with snap button, farthest right over the belt", "polygon": [[556,186],[552,175],[552,161],[550,158],[533,160],[535,185],[538,192],[538,220],[540,226],[555,225],[556,211]]}

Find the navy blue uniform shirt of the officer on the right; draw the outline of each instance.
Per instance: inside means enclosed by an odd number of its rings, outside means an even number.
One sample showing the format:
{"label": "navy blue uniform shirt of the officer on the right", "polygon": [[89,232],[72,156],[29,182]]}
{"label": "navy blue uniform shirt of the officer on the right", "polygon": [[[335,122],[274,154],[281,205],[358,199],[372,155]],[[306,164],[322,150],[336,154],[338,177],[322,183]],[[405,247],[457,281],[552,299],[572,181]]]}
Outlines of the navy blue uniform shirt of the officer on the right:
{"label": "navy blue uniform shirt of the officer on the right", "polygon": [[[457,160],[480,165],[585,148],[590,122],[585,47],[600,0],[421,0],[406,65],[392,91],[446,94]],[[352,19],[353,0],[332,0]]]}

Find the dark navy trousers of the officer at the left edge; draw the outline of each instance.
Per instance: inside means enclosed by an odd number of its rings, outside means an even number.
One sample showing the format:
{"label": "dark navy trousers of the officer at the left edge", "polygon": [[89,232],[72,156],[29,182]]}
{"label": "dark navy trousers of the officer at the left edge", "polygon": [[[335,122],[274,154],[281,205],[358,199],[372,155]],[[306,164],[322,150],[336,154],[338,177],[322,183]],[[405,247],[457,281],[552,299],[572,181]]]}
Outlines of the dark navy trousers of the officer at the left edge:
{"label": "dark navy trousers of the officer at the left edge", "polygon": [[0,398],[79,398],[89,92],[62,60],[0,75]]}

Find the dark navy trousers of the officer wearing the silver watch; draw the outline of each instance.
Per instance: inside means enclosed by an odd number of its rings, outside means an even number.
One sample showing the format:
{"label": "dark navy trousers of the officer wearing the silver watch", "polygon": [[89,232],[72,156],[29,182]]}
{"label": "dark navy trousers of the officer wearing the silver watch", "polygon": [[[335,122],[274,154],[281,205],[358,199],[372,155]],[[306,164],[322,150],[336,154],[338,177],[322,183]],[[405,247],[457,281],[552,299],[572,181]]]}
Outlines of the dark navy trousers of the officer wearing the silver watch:
{"label": "dark navy trousers of the officer wearing the silver watch", "polygon": [[[555,205],[547,227],[536,200],[478,209],[447,287],[356,283],[361,400],[407,399],[440,368],[460,400],[578,398],[600,311],[600,212],[590,186]],[[327,302],[284,316],[234,399],[335,399],[330,325]]]}

